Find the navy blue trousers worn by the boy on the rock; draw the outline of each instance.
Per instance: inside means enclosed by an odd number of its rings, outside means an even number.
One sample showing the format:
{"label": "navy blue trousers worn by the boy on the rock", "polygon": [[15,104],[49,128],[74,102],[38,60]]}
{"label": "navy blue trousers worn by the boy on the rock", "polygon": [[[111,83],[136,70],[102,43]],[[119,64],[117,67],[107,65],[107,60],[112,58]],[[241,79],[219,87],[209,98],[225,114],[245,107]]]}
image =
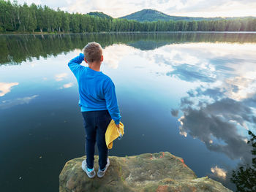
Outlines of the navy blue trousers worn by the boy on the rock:
{"label": "navy blue trousers worn by the boy on the rock", "polygon": [[111,121],[108,110],[82,112],[86,129],[86,163],[89,169],[94,167],[95,142],[99,151],[99,169],[104,169],[108,159],[108,147],[105,132]]}

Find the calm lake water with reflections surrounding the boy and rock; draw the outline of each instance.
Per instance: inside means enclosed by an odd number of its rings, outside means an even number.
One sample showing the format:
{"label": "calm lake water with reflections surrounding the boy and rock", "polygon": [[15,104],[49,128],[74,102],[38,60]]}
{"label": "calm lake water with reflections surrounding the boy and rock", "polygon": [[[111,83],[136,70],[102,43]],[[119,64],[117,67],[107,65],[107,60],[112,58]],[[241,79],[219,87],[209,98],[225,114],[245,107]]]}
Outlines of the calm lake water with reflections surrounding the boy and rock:
{"label": "calm lake water with reflections surrounding the boy and rock", "polygon": [[232,170],[252,160],[256,34],[1,35],[1,191],[58,191],[65,162],[85,155],[67,63],[93,41],[125,126],[110,155],[169,151],[234,190]]}

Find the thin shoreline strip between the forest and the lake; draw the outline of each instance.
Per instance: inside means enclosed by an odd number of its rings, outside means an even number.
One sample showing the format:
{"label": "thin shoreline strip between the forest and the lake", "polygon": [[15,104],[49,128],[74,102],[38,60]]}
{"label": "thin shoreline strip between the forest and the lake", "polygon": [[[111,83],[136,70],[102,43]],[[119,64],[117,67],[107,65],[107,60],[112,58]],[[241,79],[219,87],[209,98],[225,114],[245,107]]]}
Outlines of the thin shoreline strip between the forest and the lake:
{"label": "thin shoreline strip between the forest and the lake", "polygon": [[5,32],[0,35],[58,35],[58,34],[256,34],[256,31],[110,31],[110,32],[85,32],[85,33],[73,33],[73,32],[32,32],[32,33],[16,33]]}

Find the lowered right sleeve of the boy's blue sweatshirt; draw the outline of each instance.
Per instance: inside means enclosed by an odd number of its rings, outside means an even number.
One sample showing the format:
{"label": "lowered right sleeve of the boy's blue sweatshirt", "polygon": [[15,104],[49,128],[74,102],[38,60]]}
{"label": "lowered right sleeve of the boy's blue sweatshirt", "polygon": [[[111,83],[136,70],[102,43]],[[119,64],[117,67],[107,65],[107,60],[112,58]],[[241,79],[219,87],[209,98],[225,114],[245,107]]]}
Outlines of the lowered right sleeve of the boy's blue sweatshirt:
{"label": "lowered right sleeve of the boy's blue sweatshirt", "polygon": [[117,104],[115,85],[112,80],[108,82],[105,88],[105,100],[111,118],[115,121],[116,124],[119,124],[121,115]]}

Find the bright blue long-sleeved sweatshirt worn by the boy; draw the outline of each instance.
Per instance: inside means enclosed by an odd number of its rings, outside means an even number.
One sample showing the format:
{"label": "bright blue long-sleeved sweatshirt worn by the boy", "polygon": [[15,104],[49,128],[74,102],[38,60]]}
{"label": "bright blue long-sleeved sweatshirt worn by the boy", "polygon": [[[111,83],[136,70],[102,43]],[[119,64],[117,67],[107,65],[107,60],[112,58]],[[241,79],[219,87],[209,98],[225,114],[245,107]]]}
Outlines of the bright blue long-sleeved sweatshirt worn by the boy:
{"label": "bright blue long-sleeved sweatshirt worn by the boy", "polygon": [[115,85],[108,75],[81,66],[83,53],[69,61],[69,69],[75,74],[79,88],[81,112],[108,110],[111,118],[119,124],[121,115],[118,109]]}

